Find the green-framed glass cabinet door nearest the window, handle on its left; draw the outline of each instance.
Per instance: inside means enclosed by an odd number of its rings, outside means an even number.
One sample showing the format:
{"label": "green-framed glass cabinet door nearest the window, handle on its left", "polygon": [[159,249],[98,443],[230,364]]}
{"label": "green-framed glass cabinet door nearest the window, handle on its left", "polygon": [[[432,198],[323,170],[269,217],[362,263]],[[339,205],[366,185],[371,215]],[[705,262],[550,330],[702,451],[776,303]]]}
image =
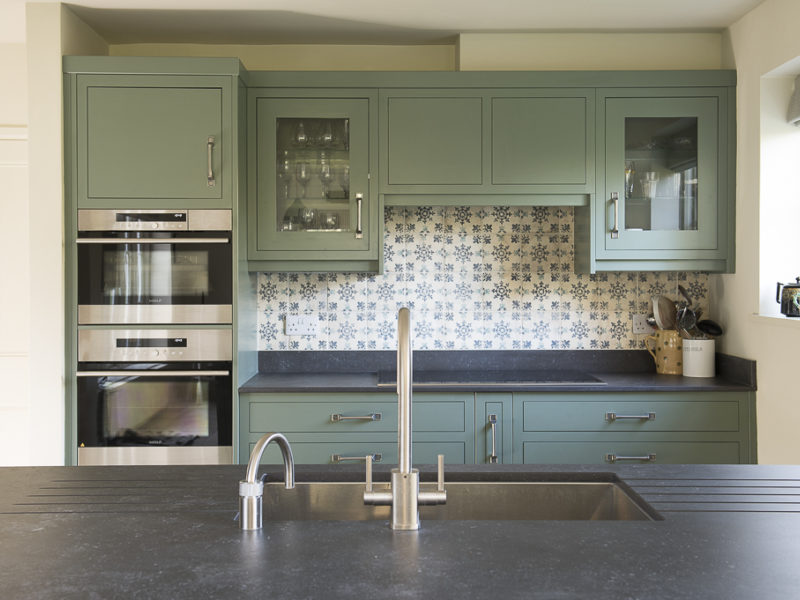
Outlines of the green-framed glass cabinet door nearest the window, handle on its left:
{"label": "green-framed glass cabinet door nearest the window, handle on its left", "polygon": [[607,98],[605,107],[605,247],[716,248],[716,98]]}

